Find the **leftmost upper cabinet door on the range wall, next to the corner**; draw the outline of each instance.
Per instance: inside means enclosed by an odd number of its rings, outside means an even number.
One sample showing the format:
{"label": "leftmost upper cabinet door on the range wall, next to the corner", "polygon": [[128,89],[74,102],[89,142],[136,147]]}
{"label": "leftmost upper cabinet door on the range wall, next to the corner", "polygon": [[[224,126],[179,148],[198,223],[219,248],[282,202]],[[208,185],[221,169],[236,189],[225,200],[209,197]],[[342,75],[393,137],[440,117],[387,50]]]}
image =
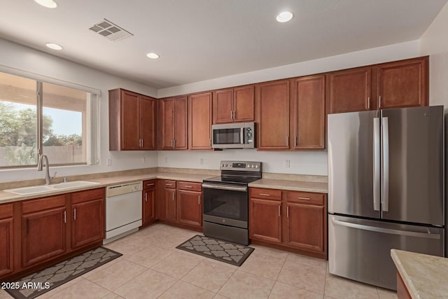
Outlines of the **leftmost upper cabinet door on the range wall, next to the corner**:
{"label": "leftmost upper cabinet door on the range wall, next to the corner", "polygon": [[172,149],[174,140],[174,99],[160,100],[160,148]]}

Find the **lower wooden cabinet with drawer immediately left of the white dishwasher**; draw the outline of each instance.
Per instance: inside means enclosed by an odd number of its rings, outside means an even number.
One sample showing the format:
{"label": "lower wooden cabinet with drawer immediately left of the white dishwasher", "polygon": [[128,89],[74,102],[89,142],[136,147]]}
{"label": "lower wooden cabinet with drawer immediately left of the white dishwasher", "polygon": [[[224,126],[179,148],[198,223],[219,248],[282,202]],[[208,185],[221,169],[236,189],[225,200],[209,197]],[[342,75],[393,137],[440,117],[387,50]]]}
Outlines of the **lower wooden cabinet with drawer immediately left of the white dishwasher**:
{"label": "lower wooden cabinet with drawer immediately left of the white dishwasher", "polygon": [[71,195],[71,249],[104,239],[104,189]]}

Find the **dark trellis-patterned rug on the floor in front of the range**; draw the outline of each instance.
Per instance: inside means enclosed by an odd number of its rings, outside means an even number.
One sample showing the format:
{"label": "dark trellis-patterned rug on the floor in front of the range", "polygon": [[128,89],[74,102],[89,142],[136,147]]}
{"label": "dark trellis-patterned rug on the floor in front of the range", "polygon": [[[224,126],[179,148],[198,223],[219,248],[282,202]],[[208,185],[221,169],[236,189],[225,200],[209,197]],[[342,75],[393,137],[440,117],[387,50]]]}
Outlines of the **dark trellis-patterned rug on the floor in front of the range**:
{"label": "dark trellis-patterned rug on the floor in front of the range", "polygon": [[207,258],[213,258],[214,260],[221,260],[221,262],[238,267],[255,250],[252,247],[201,235],[195,235],[195,237],[183,242],[176,248],[196,253],[200,256],[206,256]]}

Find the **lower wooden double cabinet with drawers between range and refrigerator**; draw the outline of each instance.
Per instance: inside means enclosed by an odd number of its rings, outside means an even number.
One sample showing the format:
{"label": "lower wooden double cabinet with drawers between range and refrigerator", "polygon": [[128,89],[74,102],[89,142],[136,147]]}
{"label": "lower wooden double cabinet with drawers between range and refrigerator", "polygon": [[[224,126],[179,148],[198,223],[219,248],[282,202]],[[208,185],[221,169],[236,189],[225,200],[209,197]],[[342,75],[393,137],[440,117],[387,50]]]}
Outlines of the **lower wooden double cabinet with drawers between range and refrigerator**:
{"label": "lower wooden double cabinet with drawers between range and refrigerator", "polygon": [[326,195],[251,188],[249,237],[327,258]]}

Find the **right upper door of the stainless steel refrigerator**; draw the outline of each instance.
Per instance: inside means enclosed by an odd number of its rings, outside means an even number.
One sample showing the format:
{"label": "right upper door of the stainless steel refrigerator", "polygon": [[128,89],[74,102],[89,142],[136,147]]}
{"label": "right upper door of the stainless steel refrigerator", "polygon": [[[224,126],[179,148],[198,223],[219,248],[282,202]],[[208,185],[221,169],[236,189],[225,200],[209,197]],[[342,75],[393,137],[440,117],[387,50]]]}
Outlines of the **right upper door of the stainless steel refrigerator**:
{"label": "right upper door of the stainless steel refrigerator", "polygon": [[381,217],[444,225],[442,106],[386,109],[381,122]]}

